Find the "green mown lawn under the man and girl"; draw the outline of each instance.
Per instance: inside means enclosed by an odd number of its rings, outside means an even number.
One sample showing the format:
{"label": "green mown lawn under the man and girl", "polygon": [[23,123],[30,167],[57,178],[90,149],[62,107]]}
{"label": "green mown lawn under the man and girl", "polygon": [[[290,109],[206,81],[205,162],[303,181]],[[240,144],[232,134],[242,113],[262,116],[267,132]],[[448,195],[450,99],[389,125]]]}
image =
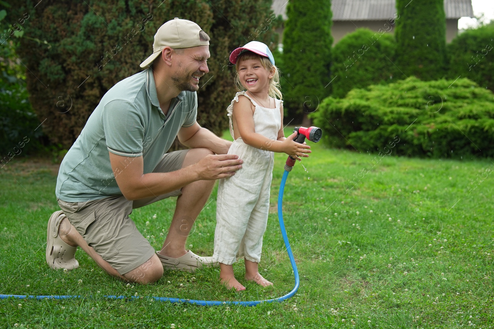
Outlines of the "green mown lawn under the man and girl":
{"label": "green mown lawn under the man and girl", "polygon": [[[312,156],[303,160],[308,172],[297,163],[285,190],[300,288],[286,302],[252,308],[103,295],[257,300],[289,292],[294,279],[276,213],[286,155],[275,156],[260,264],[274,287],[241,280],[247,287],[241,293],[223,288],[217,269],[165,272],[156,284],[127,285],[81,250],[80,268],[49,269],[44,249],[47,219],[58,210],[56,168],[14,158],[0,171],[0,293],[84,298],[1,300],[0,328],[492,328],[494,178],[488,168],[494,164],[392,154],[379,159],[311,145]],[[361,179],[352,189],[354,175]],[[214,190],[187,242],[198,254],[212,254],[215,197]],[[131,215],[156,249],[173,209],[168,199]],[[243,278],[242,261],[236,271]]]}

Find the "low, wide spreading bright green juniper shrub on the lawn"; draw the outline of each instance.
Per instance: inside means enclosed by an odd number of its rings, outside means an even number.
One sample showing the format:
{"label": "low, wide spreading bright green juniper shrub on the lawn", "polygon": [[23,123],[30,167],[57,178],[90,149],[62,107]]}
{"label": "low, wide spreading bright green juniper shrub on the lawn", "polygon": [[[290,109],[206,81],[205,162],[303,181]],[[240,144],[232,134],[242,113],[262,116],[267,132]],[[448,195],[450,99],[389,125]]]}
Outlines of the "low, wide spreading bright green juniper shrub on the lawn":
{"label": "low, wide spreading bright green juniper shrub on the lawn", "polygon": [[435,158],[490,157],[493,96],[467,78],[411,77],[354,89],[343,99],[328,97],[311,116],[332,147]]}

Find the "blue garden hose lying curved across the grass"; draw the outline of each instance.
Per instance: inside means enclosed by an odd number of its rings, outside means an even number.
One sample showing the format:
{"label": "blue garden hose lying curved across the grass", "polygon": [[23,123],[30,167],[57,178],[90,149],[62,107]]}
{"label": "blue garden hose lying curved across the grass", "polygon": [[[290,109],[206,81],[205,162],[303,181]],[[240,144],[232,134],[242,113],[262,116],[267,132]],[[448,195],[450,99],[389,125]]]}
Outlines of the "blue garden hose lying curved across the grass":
{"label": "blue garden hose lying curved across the grass", "polygon": [[[291,168],[290,168],[291,170]],[[169,301],[171,303],[190,303],[201,306],[215,306],[215,305],[243,305],[243,306],[255,306],[259,303],[272,303],[281,302],[285,299],[290,298],[297,292],[298,286],[300,284],[300,279],[298,277],[297,265],[295,264],[295,258],[293,258],[293,253],[291,252],[290,244],[288,242],[287,230],[285,229],[285,223],[283,222],[283,192],[285,191],[285,183],[287,182],[288,170],[283,173],[283,178],[280,184],[280,193],[278,194],[278,220],[280,221],[281,234],[283,235],[283,240],[285,241],[285,246],[287,247],[288,257],[290,258],[291,267],[293,269],[293,275],[295,276],[295,287],[288,292],[286,295],[273,299],[265,300],[252,300],[252,301],[219,301],[219,300],[196,300],[196,299],[184,299],[184,298],[169,298],[169,297],[148,297],[155,299],[157,301]],[[33,295],[6,295],[0,294],[0,299],[5,299],[9,297],[14,298],[29,298],[29,299],[72,299],[72,298],[85,298],[81,295],[55,295],[55,296],[33,296]],[[140,296],[116,296],[116,295],[105,295],[104,297],[109,299],[139,299]]]}

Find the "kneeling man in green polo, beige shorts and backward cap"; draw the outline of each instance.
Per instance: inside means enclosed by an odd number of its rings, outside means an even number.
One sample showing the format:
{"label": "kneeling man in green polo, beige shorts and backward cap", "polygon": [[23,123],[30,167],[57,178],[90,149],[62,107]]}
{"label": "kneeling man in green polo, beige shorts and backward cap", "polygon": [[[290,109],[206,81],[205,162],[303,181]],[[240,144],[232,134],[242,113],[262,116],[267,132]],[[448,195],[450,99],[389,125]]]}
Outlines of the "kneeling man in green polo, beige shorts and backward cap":
{"label": "kneeling man in green polo, beige shorts and backward cap", "polygon": [[[193,271],[216,265],[185,249],[214,180],[242,167],[227,155],[230,142],[196,121],[199,79],[209,70],[209,37],[194,22],[175,18],[155,35],[149,67],[112,87],[65,156],[56,195],[62,211],[48,221],[46,261],[79,266],[78,246],[109,274],[150,283],[163,269]],[[165,154],[175,137],[188,150]],[[128,218],[132,209],[178,196],[158,253]]]}

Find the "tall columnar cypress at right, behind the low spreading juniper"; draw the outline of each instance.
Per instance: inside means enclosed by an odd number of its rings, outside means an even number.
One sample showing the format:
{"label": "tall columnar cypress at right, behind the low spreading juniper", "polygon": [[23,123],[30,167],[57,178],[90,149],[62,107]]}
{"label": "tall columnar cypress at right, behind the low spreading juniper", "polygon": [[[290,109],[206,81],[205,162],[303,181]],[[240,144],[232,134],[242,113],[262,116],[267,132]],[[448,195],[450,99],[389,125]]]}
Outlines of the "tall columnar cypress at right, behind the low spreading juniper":
{"label": "tall columnar cypress at right, behind the low spreading juniper", "polygon": [[397,0],[396,65],[422,80],[446,73],[446,15],[443,0]]}

